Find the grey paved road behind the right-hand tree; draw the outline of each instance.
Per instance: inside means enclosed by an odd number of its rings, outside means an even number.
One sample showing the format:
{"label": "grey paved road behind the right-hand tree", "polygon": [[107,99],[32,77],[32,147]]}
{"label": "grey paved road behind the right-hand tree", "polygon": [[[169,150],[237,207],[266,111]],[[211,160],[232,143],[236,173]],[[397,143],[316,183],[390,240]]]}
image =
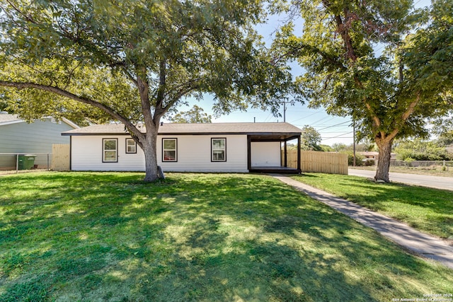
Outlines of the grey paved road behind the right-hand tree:
{"label": "grey paved road behind the right-hand tree", "polygon": [[[355,170],[349,169],[349,175],[362,176],[365,178],[374,178],[376,171],[371,170]],[[436,189],[452,190],[453,191],[453,178],[445,178],[443,176],[431,175],[418,175],[407,173],[394,173],[389,174],[390,181],[403,182],[409,185],[420,185],[423,187],[435,187]]]}

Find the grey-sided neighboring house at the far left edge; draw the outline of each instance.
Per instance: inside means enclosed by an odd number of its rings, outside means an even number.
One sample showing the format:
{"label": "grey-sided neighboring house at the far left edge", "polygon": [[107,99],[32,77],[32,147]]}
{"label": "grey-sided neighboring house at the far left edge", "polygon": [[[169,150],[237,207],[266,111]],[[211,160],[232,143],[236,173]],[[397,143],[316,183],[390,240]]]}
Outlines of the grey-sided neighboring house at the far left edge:
{"label": "grey-sided neighboring house at the far left edge", "polygon": [[[52,153],[52,144],[69,144],[69,138],[61,133],[78,128],[66,119],[57,122],[45,117],[28,123],[17,115],[0,112],[0,153],[10,153],[0,154],[0,170],[16,168],[16,153]],[[35,165],[47,167],[47,155],[37,156]]]}

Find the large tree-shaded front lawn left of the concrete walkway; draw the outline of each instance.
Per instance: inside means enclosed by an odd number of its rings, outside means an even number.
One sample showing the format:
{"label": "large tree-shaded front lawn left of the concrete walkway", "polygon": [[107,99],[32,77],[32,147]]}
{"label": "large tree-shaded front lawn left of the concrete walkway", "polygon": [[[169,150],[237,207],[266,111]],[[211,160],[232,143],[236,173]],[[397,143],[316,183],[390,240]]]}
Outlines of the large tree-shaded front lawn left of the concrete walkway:
{"label": "large tree-shaded front lawn left of the concrete walkway", "polygon": [[0,301],[391,301],[453,292],[408,255],[261,175],[0,177]]}

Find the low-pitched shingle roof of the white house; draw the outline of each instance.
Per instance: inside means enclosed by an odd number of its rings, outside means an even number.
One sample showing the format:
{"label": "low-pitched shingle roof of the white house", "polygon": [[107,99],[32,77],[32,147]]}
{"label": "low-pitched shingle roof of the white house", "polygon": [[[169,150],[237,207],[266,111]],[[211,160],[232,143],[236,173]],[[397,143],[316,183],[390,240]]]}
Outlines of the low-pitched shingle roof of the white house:
{"label": "low-pitched shingle roof of the white house", "polygon": [[[144,127],[143,127],[144,129]],[[239,122],[210,124],[163,124],[160,135],[247,134],[254,139],[273,136],[287,139],[302,134],[302,130],[286,122]],[[88,127],[63,132],[62,135],[129,135],[124,124],[93,124]]]}

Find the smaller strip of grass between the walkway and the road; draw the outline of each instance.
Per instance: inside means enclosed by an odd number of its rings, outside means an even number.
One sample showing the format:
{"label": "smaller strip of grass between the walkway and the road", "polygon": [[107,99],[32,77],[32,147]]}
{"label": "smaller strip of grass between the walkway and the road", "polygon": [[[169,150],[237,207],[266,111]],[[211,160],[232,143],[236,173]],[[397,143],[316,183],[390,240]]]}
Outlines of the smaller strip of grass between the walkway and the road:
{"label": "smaller strip of grass between the walkway and the road", "polygon": [[304,173],[295,180],[408,223],[441,238],[453,238],[453,192],[401,184],[378,184],[348,175]]}

